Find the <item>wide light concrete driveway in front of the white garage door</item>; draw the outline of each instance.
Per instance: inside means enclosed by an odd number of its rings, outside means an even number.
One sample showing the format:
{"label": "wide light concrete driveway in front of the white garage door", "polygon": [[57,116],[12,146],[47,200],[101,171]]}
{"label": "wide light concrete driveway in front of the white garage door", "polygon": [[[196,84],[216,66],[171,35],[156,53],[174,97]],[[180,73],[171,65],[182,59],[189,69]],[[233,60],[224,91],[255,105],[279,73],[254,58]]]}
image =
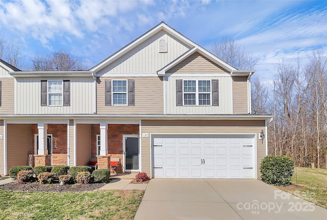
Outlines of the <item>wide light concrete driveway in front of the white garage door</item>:
{"label": "wide light concrete driveway in front of the white garage door", "polygon": [[152,179],[135,220],[327,219],[327,209],[252,179]]}

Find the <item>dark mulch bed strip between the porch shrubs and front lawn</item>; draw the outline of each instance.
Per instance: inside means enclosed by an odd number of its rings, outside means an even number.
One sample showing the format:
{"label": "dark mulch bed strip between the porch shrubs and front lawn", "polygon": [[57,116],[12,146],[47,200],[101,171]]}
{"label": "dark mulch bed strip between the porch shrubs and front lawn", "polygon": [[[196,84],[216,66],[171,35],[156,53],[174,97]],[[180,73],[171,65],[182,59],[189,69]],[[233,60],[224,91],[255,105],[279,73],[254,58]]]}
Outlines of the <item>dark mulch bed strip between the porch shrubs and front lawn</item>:
{"label": "dark mulch bed strip between the porch shrubs and front lawn", "polygon": [[0,189],[2,190],[11,190],[11,191],[41,191],[41,192],[65,192],[65,191],[91,191],[95,189],[99,189],[104,186],[106,183],[90,183],[90,184],[74,184],[74,185],[59,185],[57,184],[44,184],[41,185],[38,182],[32,183],[7,183],[4,185],[0,185]]}

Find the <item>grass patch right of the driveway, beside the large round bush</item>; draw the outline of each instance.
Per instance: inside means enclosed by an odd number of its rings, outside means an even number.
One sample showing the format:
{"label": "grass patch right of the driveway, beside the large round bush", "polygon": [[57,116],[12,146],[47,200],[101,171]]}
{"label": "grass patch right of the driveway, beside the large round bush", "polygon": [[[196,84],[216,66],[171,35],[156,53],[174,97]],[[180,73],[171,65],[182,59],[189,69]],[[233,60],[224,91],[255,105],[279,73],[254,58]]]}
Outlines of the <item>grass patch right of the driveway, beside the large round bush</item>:
{"label": "grass patch right of the driveway, beside the large round bush", "polygon": [[297,168],[292,177],[292,185],[278,187],[288,193],[327,208],[327,169]]}

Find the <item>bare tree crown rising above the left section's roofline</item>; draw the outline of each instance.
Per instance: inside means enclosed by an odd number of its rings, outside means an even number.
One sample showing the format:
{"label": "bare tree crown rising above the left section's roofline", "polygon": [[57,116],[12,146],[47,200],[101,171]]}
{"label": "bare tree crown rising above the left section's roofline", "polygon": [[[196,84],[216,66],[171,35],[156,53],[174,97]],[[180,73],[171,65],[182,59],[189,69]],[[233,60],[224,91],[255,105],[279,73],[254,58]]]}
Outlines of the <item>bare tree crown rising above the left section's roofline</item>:
{"label": "bare tree crown rising above the left section's roofline", "polygon": [[81,61],[78,61],[71,54],[65,51],[54,52],[51,56],[36,54],[33,62],[33,69],[41,70],[83,70],[86,69]]}

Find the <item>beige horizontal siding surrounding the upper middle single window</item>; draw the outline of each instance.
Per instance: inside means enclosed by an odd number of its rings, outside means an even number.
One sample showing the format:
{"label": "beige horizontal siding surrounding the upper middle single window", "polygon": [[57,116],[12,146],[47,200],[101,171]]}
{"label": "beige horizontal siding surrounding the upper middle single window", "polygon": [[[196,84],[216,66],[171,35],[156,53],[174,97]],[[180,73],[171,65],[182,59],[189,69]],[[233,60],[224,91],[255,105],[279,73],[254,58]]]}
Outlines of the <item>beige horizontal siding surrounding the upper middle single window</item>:
{"label": "beige horizontal siding surrounding the upper middle single window", "polygon": [[[106,79],[134,79],[135,106],[105,106]],[[164,91],[159,77],[101,77],[97,84],[98,114],[163,114]]]}

